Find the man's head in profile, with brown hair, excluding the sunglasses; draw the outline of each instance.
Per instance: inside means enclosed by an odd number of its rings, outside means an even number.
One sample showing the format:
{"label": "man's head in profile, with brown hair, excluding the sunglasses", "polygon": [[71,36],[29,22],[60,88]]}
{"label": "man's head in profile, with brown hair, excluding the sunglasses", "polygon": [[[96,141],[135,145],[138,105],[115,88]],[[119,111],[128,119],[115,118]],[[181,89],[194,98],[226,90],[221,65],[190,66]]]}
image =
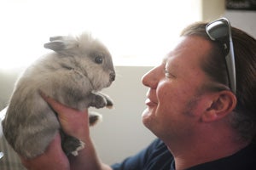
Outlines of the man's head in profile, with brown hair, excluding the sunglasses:
{"label": "man's head in profile, with brown hair, excluding the sunglasses", "polygon": [[[242,139],[256,132],[256,41],[232,28],[236,59],[236,94],[230,90],[225,53],[207,35],[207,23],[185,28],[162,64],[143,77],[149,87],[143,123],[161,139],[183,141],[198,126],[232,125]],[[203,129],[203,128],[202,128]]]}

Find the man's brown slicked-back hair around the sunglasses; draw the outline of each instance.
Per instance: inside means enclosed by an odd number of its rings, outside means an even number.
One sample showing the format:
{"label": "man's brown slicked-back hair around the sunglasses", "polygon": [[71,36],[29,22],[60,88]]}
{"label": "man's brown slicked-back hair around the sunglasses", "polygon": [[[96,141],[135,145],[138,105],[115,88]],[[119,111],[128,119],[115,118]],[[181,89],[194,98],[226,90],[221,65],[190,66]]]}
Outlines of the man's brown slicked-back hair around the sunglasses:
{"label": "man's brown slicked-back hair around the sunglasses", "polygon": [[[212,79],[229,87],[224,50],[220,42],[207,36],[207,23],[197,22],[186,27],[181,36],[198,36],[212,42],[212,49],[201,61],[202,70]],[[242,139],[256,139],[256,40],[238,28],[231,28],[236,60],[236,109],[231,116],[232,126]],[[214,88],[212,90],[224,90]]]}

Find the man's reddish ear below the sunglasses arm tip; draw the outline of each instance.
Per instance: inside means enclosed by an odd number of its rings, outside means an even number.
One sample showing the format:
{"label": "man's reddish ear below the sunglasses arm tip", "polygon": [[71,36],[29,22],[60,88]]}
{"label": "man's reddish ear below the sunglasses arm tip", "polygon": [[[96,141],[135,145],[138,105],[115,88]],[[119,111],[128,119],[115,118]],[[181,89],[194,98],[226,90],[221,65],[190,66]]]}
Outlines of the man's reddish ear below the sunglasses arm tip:
{"label": "man's reddish ear below the sunglasses arm tip", "polygon": [[213,122],[227,116],[236,107],[236,95],[228,90],[213,94],[203,113],[202,122]]}

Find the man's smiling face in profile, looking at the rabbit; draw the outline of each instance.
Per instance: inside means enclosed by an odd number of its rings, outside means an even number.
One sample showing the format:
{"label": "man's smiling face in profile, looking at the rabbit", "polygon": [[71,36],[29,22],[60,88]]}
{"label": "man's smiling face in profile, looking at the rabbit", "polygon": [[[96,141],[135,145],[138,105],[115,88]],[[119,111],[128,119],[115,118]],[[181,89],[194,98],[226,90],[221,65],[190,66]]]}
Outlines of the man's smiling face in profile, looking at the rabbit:
{"label": "man's smiling face in profile, looking at the rabbit", "polygon": [[160,139],[184,139],[193,135],[200,122],[202,85],[208,82],[201,70],[210,43],[200,37],[182,37],[162,64],[148,71],[143,84],[148,87],[143,123]]}

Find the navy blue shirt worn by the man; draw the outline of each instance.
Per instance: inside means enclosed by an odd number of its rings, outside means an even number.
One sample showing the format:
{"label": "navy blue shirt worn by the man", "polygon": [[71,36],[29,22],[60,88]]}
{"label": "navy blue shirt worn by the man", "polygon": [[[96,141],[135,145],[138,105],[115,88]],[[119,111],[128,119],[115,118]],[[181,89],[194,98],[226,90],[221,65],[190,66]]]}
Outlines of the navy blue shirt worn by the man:
{"label": "navy blue shirt worn by the man", "polygon": [[[160,139],[155,139],[146,149],[121,163],[113,170],[175,170],[171,152]],[[249,144],[233,156],[190,167],[188,170],[256,170],[256,144]]]}

